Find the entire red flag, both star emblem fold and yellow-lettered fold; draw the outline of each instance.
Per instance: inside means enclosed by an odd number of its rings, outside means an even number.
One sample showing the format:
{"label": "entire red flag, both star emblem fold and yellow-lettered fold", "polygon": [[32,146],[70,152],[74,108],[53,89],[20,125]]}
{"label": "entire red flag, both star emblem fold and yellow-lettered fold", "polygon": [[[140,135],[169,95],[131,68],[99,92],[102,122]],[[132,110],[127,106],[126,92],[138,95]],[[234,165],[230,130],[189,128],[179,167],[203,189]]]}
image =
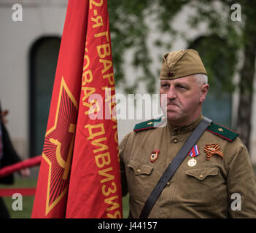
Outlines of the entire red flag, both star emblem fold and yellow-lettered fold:
{"label": "entire red flag, both star emblem fold and yellow-lettered fold", "polygon": [[[116,121],[110,119],[108,121],[101,120],[101,122],[98,122],[96,120],[92,122],[86,114],[86,111],[89,111],[88,108],[93,106],[88,101],[91,93],[102,94],[101,87],[111,87],[111,95],[115,93],[111,70],[109,25],[106,15],[106,1],[104,0],[90,1],[90,4],[89,0],[69,1],[55,75],[47,133],[44,139],[42,162],[32,212],[33,218],[104,217],[104,215],[93,215],[93,210],[92,212],[89,210],[91,207],[106,213],[106,218],[122,216]],[[107,21],[105,21],[106,19]],[[107,30],[105,27],[107,27]],[[95,31],[96,29],[98,33]],[[104,45],[105,34],[109,46]],[[96,42],[100,44],[95,44]],[[87,44],[86,48],[85,44]],[[102,52],[99,53],[98,57],[96,56],[97,53],[93,52],[92,54],[90,52],[95,48],[98,52]],[[107,58],[103,58],[104,51],[106,51]],[[100,59],[108,61],[104,62]],[[104,68],[101,69],[101,67]],[[104,72],[101,73],[102,71]],[[113,105],[110,104],[110,107],[113,108]],[[102,124],[101,127],[98,126],[100,124]],[[95,130],[98,127],[104,129],[106,140],[102,137],[95,138],[97,135]],[[92,139],[89,139],[90,137]],[[116,151],[110,151],[114,146]],[[96,176],[92,177],[92,174],[95,173],[93,164],[96,166],[98,164],[103,165],[99,151],[106,148],[110,149],[104,151],[108,154],[106,157],[102,155],[102,159],[111,158],[111,161],[110,159],[106,160],[106,163],[111,167],[96,171],[98,176],[104,177],[104,179],[99,179]],[[98,158],[98,160],[92,160],[92,158]],[[112,178],[113,176],[114,178]],[[106,196],[113,190],[113,187],[108,189],[106,185],[109,185],[109,183],[101,183],[101,181],[110,179],[109,177],[112,181],[110,185],[115,183],[114,197]],[[90,182],[85,186],[82,179],[90,180]],[[101,191],[101,194],[93,193],[92,190]],[[84,202],[83,197],[88,195],[88,191],[91,195],[94,195],[94,199],[98,199],[100,196],[106,197],[106,200],[103,200],[105,204],[101,205],[99,202],[93,202],[93,199],[90,199],[90,203]],[[67,200],[68,193],[69,200]],[[74,207],[70,208],[67,202],[73,203]],[[87,205],[87,207],[85,211],[81,210],[74,214],[74,211],[77,211],[78,202],[82,202],[82,205]],[[79,209],[81,209],[81,206]],[[88,216],[89,212],[90,215]]]}

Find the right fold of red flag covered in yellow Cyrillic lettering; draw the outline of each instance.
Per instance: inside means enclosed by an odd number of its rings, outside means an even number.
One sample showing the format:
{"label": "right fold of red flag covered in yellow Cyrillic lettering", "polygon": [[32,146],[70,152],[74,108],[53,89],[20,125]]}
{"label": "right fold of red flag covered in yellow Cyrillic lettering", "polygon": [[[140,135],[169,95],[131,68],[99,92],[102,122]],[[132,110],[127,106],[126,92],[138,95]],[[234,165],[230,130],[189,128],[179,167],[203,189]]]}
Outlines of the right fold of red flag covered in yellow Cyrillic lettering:
{"label": "right fold of red flag covered in yellow Cyrillic lettering", "polygon": [[107,1],[90,1],[88,15],[66,218],[122,218]]}

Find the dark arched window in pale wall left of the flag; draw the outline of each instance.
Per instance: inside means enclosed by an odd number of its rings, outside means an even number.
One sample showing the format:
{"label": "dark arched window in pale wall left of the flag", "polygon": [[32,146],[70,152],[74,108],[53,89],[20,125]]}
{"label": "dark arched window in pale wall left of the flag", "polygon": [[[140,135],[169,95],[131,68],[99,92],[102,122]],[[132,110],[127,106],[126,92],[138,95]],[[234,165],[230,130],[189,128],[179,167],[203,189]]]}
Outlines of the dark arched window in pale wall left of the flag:
{"label": "dark arched window in pale wall left of the flag", "polygon": [[43,37],[30,52],[30,156],[42,154],[61,39]]}

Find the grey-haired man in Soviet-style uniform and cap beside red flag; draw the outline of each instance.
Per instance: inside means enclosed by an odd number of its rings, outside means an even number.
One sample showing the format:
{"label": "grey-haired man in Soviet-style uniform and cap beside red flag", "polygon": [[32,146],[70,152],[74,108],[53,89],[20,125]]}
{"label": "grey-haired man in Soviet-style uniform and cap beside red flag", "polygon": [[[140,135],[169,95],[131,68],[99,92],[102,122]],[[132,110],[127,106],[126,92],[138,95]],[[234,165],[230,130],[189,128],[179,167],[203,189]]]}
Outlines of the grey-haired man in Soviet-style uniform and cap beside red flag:
{"label": "grey-haired man in Soviet-style uniform and cap beside red flag", "polygon": [[[163,55],[160,94],[167,124],[142,122],[120,144],[123,196],[139,218],[166,167],[198,126],[209,90],[195,50]],[[148,218],[256,218],[256,179],[238,133],[212,122],[160,193]]]}

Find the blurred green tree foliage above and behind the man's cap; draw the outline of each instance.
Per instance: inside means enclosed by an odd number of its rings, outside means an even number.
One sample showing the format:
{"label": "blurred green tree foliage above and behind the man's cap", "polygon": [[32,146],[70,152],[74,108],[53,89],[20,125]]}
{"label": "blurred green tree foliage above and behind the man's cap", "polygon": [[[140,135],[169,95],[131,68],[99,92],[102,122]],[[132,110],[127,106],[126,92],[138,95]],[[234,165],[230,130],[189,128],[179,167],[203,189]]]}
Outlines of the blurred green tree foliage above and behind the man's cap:
{"label": "blurred green tree foliage above and behind the man's cap", "polygon": [[[150,69],[152,63],[151,47],[148,46],[147,39],[150,31],[155,30],[159,37],[155,39],[155,47],[165,47],[166,51],[171,50],[172,42],[177,39],[177,36],[186,39],[187,35],[179,25],[173,25],[174,17],[181,12],[183,7],[189,7],[191,15],[187,17],[187,25],[190,28],[198,28],[201,23],[207,24],[205,36],[217,35],[221,39],[220,43],[206,44],[204,51],[204,63],[210,71],[210,81],[214,76],[216,69],[211,65],[216,60],[214,52],[221,50],[227,59],[232,58],[231,67],[235,67],[236,52],[241,45],[241,23],[233,23],[230,20],[230,4],[222,4],[219,7],[216,1],[174,1],[174,0],[143,0],[143,1],[113,1],[109,0],[109,20],[110,30],[112,33],[112,50],[114,54],[115,64],[115,79],[117,85],[122,83],[127,90],[135,91],[138,82],[144,82],[147,85],[147,91],[155,91],[155,80],[158,76],[157,71]],[[224,16],[223,16],[224,15]],[[152,17],[155,23],[155,28],[152,28],[147,19]],[[161,35],[169,36],[168,42],[161,39]],[[190,44],[187,39],[187,44]],[[136,77],[136,84],[130,86],[125,83],[124,64],[125,52],[133,51],[133,67],[141,69],[143,75]],[[217,66],[217,65],[216,65]],[[229,69],[231,70],[231,69]],[[233,70],[234,71],[234,70]],[[212,75],[211,75],[212,74]],[[217,75],[220,77],[220,75]],[[227,79],[222,79],[225,82],[225,90],[233,90],[233,82],[230,79],[233,74],[228,74]],[[128,79],[128,78],[127,78]],[[231,85],[230,85],[231,84]]]}

